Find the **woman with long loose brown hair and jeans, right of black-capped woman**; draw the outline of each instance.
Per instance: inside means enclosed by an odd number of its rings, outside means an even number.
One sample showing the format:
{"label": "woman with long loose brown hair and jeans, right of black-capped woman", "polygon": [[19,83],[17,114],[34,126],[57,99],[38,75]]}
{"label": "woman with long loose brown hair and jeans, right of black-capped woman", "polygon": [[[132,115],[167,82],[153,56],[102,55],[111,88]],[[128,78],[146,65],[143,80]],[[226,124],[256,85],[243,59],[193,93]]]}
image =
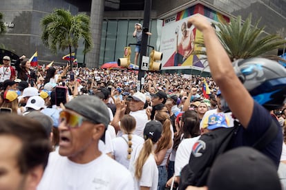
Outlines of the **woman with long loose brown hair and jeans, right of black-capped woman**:
{"label": "woman with long loose brown hair and jeans, right of black-capped woman", "polygon": [[155,153],[156,164],[159,171],[158,190],[164,190],[168,173],[166,169],[167,160],[171,154],[173,147],[173,138],[171,131],[171,120],[169,114],[164,111],[155,114],[155,120],[160,121],[163,125],[162,136],[158,140]]}

